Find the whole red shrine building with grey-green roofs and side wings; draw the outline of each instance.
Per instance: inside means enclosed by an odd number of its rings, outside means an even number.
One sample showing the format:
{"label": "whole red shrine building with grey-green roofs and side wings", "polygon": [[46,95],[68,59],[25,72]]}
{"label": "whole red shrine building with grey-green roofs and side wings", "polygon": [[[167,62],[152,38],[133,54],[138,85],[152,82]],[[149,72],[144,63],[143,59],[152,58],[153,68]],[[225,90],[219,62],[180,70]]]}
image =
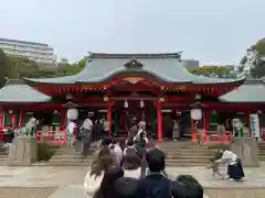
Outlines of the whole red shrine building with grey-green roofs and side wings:
{"label": "whole red shrine building with grey-green roofs and side wings", "polygon": [[[244,136],[263,131],[261,121],[254,127],[251,117],[263,118],[264,102],[263,79],[197,76],[184,68],[179,53],[91,53],[77,75],[8,80],[0,89],[0,129],[18,128],[32,114],[44,113],[54,130],[64,130],[67,109],[76,108],[81,119],[87,112],[107,119],[114,136],[126,136],[129,120],[138,118],[158,141],[169,135],[172,120],[180,121],[182,136],[194,140],[200,129],[211,141],[220,120],[239,119]],[[200,120],[192,120],[192,109],[201,110]]]}

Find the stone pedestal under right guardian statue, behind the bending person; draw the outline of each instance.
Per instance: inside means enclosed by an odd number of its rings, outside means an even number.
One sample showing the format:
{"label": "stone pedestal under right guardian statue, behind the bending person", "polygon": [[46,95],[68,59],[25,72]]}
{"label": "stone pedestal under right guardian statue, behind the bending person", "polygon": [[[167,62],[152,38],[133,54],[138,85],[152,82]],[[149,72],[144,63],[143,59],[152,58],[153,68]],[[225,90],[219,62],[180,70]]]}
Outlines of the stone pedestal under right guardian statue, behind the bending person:
{"label": "stone pedestal under right guardian statue, behind the bending person", "polygon": [[257,141],[251,138],[234,138],[230,150],[235,153],[245,167],[259,166],[257,156]]}

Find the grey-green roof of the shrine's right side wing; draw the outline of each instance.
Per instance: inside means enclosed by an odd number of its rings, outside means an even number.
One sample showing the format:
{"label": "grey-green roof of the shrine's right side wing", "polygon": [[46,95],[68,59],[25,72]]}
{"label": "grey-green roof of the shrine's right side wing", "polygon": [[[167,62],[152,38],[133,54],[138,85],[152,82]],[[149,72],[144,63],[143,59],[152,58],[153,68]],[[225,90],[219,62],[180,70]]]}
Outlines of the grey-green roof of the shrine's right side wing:
{"label": "grey-green roof of the shrine's right side wing", "polygon": [[265,102],[265,84],[263,80],[247,80],[219,99],[223,102]]}

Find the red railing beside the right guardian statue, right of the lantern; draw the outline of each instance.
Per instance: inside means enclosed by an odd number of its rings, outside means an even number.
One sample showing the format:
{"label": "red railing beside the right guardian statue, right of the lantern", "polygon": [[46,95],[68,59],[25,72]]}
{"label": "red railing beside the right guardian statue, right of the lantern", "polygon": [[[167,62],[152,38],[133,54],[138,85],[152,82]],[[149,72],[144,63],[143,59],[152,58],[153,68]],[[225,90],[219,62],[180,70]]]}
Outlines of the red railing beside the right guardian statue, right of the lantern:
{"label": "red railing beside the right guardian statue, right of the lantern", "polygon": [[[216,131],[204,131],[201,132],[201,141],[204,143],[221,143],[221,136],[218,134]],[[231,132],[226,131],[224,134],[224,141],[223,143],[230,143],[231,142]]]}

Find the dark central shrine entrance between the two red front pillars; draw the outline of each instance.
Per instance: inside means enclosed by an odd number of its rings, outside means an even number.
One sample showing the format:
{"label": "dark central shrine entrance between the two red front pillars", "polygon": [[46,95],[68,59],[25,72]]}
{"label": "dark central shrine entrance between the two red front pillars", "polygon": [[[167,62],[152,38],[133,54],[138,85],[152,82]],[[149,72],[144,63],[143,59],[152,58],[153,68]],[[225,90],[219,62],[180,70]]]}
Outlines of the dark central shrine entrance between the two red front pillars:
{"label": "dark central shrine entrance between the two red front pillars", "polygon": [[[127,138],[134,120],[139,122],[145,120],[148,135],[156,138],[156,107],[152,100],[141,100],[138,98],[117,100],[113,107],[114,129],[117,136]],[[118,129],[117,129],[118,127]]]}

